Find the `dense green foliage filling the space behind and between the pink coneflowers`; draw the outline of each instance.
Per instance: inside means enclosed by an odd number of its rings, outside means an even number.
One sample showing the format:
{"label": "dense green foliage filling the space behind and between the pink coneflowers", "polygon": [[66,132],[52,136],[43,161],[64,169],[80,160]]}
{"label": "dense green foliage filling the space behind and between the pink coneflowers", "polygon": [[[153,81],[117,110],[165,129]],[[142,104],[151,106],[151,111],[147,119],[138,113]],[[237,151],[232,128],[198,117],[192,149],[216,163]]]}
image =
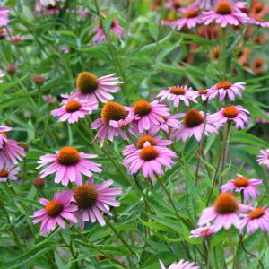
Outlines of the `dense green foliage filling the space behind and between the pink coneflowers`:
{"label": "dense green foliage filling the space behind and between the pink coneflowers", "polygon": [[[19,180],[0,184],[0,268],[151,269],[160,268],[159,259],[166,265],[179,259],[195,260],[206,268],[208,253],[211,268],[232,268],[228,230],[215,234],[210,246],[203,239],[189,238],[206,207],[221,152],[222,131],[205,140],[206,157],[201,162],[197,185],[199,143],[191,138],[172,145],[179,158],[163,178],[185,222],[178,221],[160,185],[152,187],[142,177],[141,189],[135,185],[134,177],[122,163],[125,141],[117,137],[112,143],[107,141],[102,149],[98,142],[91,143],[89,130],[96,133],[90,124],[100,117],[101,105],[82,123],[74,125],[60,123],[50,115],[60,106],[60,94],[74,91],[76,76],[82,71],[98,76],[116,73],[124,83],[121,91],[113,95],[126,106],[132,106],[136,100],[152,101],[161,89],[175,84],[200,90],[221,81],[224,67],[217,51],[218,29],[213,39],[206,39],[201,34],[203,26],[182,31],[162,26],[161,20],[169,15],[169,10],[153,2],[158,1],[66,0],[60,13],[38,16],[35,1],[4,1],[3,5],[10,8],[10,22],[8,32],[0,40],[0,65],[4,70],[4,82],[0,84],[1,125],[13,127],[9,137],[27,148],[27,156],[20,163]],[[86,16],[77,13],[82,9]],[[99,25],[100,14],[108,42],[96,43],[92,41],[92,29]],[[110,32],[114,18],[125,29],[123,39]],[[224,72],[229,81],[247,83],[237,104],[250,111],[251,123],[244,130],[232,128],[227,165],[218,177],[224,182],[236,174],[261,178],[265,185],[262,194],[268,194],[268,172],[256,162],[260,149],[269,147],[268,30],[256,28],[249,32],[248,26],[227,28]],[[44,76],[45,82],[34,82],[36,74]],[[43,100],[49,94],[57,98],[56,102]],[[211,102],[208,111],[221,107],[221,102]],[[203,102],[192,104],[192,108],[203,110]],[[184,105],[173,108],[174,113],[186,110]],[[40,197],[51,199],[56,191],[68,187],[56,184],[53,176],[46,178],[45,187],[35,187],[33,179],[39,178],[37,161],[41,155],[67,144],[98,154],[94,161],[102,164],[103,171],[94,175],[95,181],[112,178],[115,187],[122,187],[123,195],[117,199],[121,206],[113,208],[113,215],[108,216],[111,227],[88,222],[84,230],[57,228],[43,237],[39,226],[31,224],[30,215],[40,209]],[[218,194],[215,188],[210,204]],[[268,200],[266,195],[263,204],[268,204]],[[244,247],[239,244],[239,231],[231,231],[239,268],[258,268],[260,263],[261,268],[269,268],[268,241],[261,230],[247,235]]]}

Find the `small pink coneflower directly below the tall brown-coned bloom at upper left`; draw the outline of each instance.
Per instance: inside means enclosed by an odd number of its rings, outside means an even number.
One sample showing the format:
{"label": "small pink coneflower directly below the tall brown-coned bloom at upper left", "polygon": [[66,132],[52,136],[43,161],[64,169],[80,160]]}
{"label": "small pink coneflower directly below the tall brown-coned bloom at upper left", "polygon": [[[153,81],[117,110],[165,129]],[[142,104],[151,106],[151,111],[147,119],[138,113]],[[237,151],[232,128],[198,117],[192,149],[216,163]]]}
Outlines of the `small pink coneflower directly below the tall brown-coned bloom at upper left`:
{"label": "small pink coneflower directly below the tall brown-coned bloom at upper left", "polygon": [[91,114],[97,108],[97,101],[78,100],[75,98],[66,102],[62,108],[52,110],[51,115],[58,116],[59,121],[67,120],[68,123],[73,124],[86,115]]}

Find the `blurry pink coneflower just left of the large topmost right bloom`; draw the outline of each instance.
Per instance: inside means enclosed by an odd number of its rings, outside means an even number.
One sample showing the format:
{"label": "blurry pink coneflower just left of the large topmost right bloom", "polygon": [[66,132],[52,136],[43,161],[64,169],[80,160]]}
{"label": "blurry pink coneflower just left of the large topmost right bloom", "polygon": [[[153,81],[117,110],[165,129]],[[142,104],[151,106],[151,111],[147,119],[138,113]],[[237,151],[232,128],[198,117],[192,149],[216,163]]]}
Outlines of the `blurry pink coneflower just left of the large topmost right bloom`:
{"label": "blurry pink coneflower just left of the large topmost right bloom", "polygon": [[184,26],[187,26],[187,29],[192,29],[203,22],[203,15],[199,13],[194,4],[190,4],[186,10],[181,9],[181,12],[184,13],[184,18],[178,19],[177,30],[181,30]]}

